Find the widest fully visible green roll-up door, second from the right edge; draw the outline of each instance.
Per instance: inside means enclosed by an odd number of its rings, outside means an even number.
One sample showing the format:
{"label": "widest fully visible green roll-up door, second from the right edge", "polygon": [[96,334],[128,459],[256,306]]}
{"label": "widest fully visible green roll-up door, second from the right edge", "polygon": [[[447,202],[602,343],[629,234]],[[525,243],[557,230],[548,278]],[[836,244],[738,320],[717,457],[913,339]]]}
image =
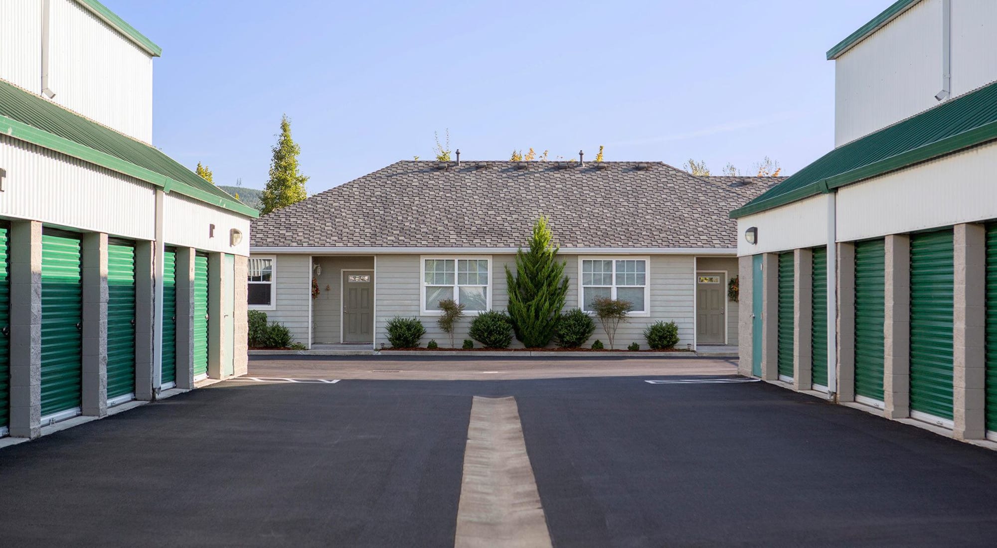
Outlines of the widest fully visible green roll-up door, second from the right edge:
{"label": "widest fully visible green roll-up door, second from the right edge", "polygon": [[952,418],[952,231],[910,237],[910,411]]}

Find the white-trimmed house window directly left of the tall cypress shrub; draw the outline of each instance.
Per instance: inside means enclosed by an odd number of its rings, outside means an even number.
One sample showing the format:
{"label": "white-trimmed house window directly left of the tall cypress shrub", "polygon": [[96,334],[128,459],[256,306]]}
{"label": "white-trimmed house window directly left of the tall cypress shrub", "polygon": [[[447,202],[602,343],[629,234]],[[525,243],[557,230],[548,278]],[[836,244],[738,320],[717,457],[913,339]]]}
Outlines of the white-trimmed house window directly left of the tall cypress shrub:
{"label": "white-trimmed house window directly left of the tall cypress shrub", "polygon": [[440,301],[464,304],[465,314],[492,308],[492,257],[421,257],[422,314],[441,314]]}

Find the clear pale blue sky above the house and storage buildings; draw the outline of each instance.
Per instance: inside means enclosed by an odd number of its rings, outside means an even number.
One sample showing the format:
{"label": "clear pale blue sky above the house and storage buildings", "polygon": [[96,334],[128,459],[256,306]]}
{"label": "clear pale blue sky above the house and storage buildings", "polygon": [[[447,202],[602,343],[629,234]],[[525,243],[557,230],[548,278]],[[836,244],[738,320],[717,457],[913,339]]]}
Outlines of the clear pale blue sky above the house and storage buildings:
{"label": "clear pale blue sky above the house and storage buildings", "polygon": [[825,52],[890,0],[104,0],[163,47],[154,142],[266,181],[287,113],[309,193],[433,157],[533,146],[792,173],[833,145]]}

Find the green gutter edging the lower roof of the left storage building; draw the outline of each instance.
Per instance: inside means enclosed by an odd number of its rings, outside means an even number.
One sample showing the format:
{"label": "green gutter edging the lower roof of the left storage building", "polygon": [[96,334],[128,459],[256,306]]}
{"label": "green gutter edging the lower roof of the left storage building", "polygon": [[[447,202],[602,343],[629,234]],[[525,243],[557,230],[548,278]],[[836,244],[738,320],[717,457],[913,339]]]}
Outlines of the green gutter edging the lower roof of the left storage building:
{"label": "green gutter edging the lower roof of the left storage building", "polygon": [[222,196],[212,194],[199,188],[194,188],[184,182],[167,177],[162,173],[157,173],[156,171],[147,169],[141,165],[136,165],[131,161],[113,156],[107,152],[96,150],[74,140],[50,134],[44,130],[39,130],[38,128],[28,126],[27,124],[23,124],[2,115],[0,115],[0,134],[13,137],[18,140],[23,140],[25,142],[30,142],[32,144],[37,144],[43,148],[55,150],[56,152],[73,156],[89,163],[100,165],[101,167],[107,167],[108,169],[117,171],[124,175],[144,180],[155,186],[163,188],[163,190],[167,193],[176,192],[177,194],[182,194],[197,201],[201,201],[221,209],[226,209],[240,215],[252,218],[259,217],[259,211],[249,207],[248,205],[235,201],[234,198],[226,199]]}

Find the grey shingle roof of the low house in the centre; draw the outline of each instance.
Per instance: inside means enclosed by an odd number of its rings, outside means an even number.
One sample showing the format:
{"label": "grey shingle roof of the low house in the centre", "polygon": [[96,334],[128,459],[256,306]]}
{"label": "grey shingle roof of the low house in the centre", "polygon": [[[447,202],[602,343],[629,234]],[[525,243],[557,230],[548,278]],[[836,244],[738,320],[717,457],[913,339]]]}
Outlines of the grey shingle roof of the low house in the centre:
{"label": "grey shingle roof of the low house in the centre", "polygon": [[[534,219],[572,247],[736,246],[728,212],[778,177],[661,162],[404,160],[254,220],[254,247],[515,247]],[[771,180],[770,180],[771,179]],[[750,181],[750,182],[746,182]]]}

